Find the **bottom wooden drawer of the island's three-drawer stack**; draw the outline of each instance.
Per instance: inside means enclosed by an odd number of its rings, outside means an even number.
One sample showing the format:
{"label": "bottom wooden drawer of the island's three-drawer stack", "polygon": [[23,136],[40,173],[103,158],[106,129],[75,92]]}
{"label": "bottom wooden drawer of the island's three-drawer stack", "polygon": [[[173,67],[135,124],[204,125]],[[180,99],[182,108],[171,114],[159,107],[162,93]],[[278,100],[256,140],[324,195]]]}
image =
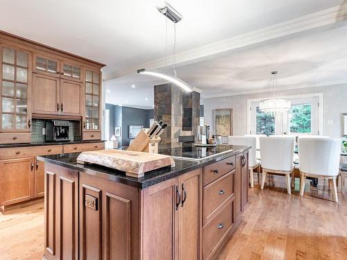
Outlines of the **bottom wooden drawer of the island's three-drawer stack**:
{"label": "bottom wooden drawer of the island's three-drawer stack", "polygon": [[232,203],[233,200],[230,200],[219,214],[203,227],[203,259],[208,259],[208,256],[218,247],[231,227]]}

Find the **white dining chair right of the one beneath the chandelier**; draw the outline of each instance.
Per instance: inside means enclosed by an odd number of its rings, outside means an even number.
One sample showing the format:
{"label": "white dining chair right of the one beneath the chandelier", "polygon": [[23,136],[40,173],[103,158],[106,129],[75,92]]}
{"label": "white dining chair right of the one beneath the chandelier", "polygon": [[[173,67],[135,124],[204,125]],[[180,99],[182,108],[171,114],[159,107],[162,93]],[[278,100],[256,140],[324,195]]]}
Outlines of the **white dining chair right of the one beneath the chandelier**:
{"label": "white dining chair right of the one beneath the chandelier", "polygon": [[298,151],[300,162],[300,196],[305,192],[306,177],[318,177],[332,180],[335,202],[337,196],[336,178],[339,175],[341,141],[329,137],[299,137]]}

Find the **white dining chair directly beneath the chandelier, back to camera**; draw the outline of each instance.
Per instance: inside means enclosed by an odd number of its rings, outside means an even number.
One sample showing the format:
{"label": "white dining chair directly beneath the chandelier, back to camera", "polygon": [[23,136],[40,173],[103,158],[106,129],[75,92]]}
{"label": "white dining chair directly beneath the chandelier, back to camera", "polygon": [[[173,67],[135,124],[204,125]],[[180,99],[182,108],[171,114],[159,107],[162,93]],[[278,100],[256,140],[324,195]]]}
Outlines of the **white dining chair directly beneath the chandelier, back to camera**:
{"label": "white dining chair directly beneath the chandelier, back to camera", "polygon": [[260,156],[262,157],[262,184],[264,189],[267,173],[285,175],[287,192],[291,194],[291,182],[294,182],[294,143],[295,138],[260,137]]}

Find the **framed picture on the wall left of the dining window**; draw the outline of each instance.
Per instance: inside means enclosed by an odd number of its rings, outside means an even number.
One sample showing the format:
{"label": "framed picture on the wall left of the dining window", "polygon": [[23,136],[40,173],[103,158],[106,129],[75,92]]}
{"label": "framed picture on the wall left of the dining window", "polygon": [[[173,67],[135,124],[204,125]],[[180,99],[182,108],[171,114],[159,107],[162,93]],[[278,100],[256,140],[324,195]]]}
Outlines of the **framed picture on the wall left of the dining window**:
{"label": "framed picture on the wall left of the dining window", "polygon": [[232,109],[213,110],[214,134],[226,137],[232,135]]}

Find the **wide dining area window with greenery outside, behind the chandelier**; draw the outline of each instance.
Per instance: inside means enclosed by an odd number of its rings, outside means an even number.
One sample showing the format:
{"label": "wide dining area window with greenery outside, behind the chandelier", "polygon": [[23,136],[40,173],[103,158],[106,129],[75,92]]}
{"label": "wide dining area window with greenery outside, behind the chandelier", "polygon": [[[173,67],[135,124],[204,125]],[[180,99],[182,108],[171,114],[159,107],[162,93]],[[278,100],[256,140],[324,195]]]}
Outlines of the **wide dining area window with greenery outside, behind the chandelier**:
{"label": "wide dining area window with greenery outside, behind the chandelier", "polygon": [[259,110],[262,98],[250,99],[247,134],[323,135],[323,94],[285,96],[291,100],[289,112],[269,114]]}

